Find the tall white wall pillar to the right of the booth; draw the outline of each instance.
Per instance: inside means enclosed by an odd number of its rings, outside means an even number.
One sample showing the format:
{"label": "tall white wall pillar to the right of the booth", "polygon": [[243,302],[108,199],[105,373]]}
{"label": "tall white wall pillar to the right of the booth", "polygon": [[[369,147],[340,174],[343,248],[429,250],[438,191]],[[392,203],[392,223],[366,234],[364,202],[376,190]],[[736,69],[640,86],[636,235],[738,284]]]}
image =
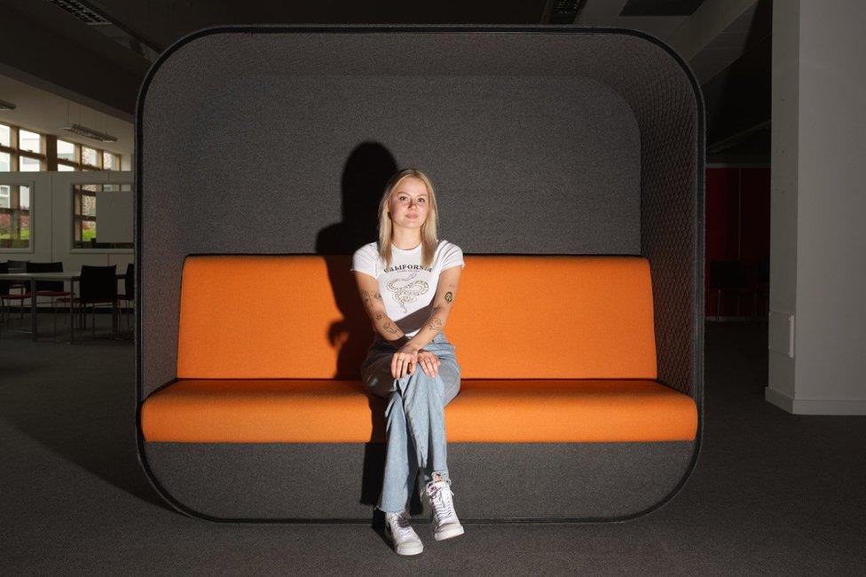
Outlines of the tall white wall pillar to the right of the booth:
{"label": "tall white wall pillar to the right of the booth", "polygon": [[766,398],[866,415],[866,4],[773,9]]}

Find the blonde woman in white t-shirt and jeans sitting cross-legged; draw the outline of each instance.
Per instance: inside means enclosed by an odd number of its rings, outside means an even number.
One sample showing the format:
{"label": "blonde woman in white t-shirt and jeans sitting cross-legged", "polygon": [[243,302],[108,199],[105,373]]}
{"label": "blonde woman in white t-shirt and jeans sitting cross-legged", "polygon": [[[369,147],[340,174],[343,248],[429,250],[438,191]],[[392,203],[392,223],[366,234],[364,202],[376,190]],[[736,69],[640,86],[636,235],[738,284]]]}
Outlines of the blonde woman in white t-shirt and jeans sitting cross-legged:
{"label": "blonde woman in white t-shirt and jeans sitting cross-legged", "polygon": [[[361,365],[366,391],[389,399],[382,495],[385,532],[400,555],[423,551],[409,526],[409,488],[433,510],[437,541],[463,534],[446,465],[445,405],[460,390],[460,365],[443,328],[457,296],[463,252],[439,240],[433,185],[421,170],[390,178],[379,202],[379,241],[355,251],[358,292],[374,342]],[[419,369],[420,367],[420,369]]]}

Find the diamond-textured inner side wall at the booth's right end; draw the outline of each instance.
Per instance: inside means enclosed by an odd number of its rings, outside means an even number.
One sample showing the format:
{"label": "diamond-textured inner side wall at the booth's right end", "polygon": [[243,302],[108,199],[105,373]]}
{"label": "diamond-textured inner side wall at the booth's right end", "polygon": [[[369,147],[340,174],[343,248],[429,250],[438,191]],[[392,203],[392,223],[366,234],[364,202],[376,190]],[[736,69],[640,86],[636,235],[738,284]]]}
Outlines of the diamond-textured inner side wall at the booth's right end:
{"label": "diamond-textured inner side wall at the booth's right end", "polygon": [[[638,39],[634,38],[634,41]],[[641,127],[641,251],[650,259],[658,380],[698,397],[703,354],[704,134],[689,78],[661,49],[619,83]]]}

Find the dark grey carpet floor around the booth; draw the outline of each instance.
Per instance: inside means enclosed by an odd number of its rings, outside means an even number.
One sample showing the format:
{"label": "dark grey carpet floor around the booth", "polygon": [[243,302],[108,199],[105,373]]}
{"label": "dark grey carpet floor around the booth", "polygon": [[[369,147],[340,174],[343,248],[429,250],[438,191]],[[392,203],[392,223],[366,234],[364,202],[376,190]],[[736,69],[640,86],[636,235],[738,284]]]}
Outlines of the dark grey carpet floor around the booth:
{"label": "dark grey carpet floor around the booth", "polygon": [[710,323],[706,347],[704,447],[663,507],[621,523],[467,524],[441,542],[416,526],[424,552],[400,557],[373,526],[178,514],[139,469],[130,342],[4,331],[0,574],[864,574],[866,417],[766,402],[766,323]]}

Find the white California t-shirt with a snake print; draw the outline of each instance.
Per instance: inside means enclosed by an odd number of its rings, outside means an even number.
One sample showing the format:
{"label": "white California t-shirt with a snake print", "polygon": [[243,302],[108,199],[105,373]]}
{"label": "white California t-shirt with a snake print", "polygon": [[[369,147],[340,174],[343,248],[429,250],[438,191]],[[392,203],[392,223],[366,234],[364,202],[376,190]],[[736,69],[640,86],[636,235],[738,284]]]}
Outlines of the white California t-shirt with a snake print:
{"label": "white California t-shirt with a snake print", "polygon": [[[391,246],[391,265],[379,257],[378,242],[355,251],[350,270],[366,273],[379,281],[385,312],[406,336],[415,336],[433,313],[433,297],[439,273],[452,266],[465,266],[463,251],[452,242],[440,239],[430,268],[421,267],[421,244],[403,250]],[[373,327],[374,338],[382,338]]]}

